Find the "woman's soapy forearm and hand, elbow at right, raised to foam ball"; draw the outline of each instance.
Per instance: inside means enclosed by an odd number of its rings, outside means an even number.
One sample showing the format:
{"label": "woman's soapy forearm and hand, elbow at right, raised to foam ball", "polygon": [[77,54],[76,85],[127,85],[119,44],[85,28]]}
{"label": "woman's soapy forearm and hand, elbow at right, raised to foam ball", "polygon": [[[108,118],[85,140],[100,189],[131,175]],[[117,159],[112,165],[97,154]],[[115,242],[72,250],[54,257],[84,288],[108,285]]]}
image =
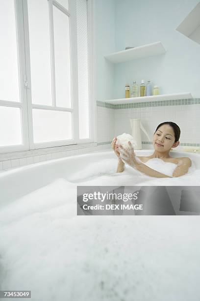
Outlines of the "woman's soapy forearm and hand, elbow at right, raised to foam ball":
{"label": "woman's soapy forearm and hand, elbow at right, raised to foam ball", "polygon": [[140,160],[138,160],[135,156],[133,147],[130,142],[130,151],[125,150],[121,145],[119,147],[121,158],[131,167],[137,169],[143,174],[146,174],[147,176],[154,177],[154,178],[171,178],[169,176],[166,176],[162,173],[157,172],[156,170],[150,168],[149,166],[142,163]]}

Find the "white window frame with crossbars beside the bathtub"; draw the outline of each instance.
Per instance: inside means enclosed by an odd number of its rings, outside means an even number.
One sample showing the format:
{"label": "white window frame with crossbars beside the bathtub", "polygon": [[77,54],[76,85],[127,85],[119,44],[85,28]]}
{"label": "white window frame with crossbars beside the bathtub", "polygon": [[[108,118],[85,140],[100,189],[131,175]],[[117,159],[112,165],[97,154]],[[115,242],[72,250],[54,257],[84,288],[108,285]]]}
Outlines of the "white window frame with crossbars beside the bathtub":
{"label": "white window frame with crossbars beside the bathtub", "polygon": [[[48,105],[32,104],[31,101],[31,73],[30,73],[30,50],[29,50],[29,30],[28,30],[28,8],[27,0],[15,0],[16,8],[16,26],[17,41],[19,52],[19,74],[20,74],[20,91],[22,102],[0,101],[0,105],[14,106],[21,108],[23,145],[0,147],[0,152],[25,151],[34,149],[44,149],[50,147],[67,146],[73,144],[83,144],[94,142],[96,137],[96,103],[94,101],[94,62],[93,62],[93,19],[92,19],[92,0],[88,2],[88,53],[89,53],[89,127],[90,138],[79,139],[78,131],[78,70],[77,70],[77,35],[76,35],[76,15],[75,0],[69,0],[69,11],[60,5],[56,0],[48,0],[50,2],[50,47],[51,47],[51,87],[52,101],[55,100],[55,78],[54,78],[54,54],[53,54],[53,18],[52,5],[55,5],[62,12],[70,15],[70,53],[71,53],[71,100],[72,108],[61,108]],[[55,101],[53,102],[55,105]],[[32,109],[44,109],[54,111],[72,112],[72,135],[74,139],[51,141],[44,143],[33,142],[33,123]]]}

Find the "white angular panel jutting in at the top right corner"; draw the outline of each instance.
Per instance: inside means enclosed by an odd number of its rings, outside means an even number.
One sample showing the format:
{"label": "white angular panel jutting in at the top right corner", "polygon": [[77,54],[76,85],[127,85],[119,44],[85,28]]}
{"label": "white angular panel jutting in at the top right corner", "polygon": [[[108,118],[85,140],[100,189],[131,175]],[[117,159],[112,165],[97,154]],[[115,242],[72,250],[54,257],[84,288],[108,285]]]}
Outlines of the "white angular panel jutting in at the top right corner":
{"label": "white angular panel jutting in at the top right corner", "polygon": [[200,44],[200,2],[183,22],[181,22],[176,30]]}

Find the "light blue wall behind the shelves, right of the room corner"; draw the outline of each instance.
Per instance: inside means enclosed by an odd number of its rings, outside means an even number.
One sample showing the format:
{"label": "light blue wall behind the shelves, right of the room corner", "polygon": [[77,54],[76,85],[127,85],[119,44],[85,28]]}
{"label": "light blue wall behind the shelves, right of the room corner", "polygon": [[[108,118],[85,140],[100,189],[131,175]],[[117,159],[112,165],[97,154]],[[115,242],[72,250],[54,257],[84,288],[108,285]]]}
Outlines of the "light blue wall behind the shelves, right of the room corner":
{"label": "light blue wall behind the shelves, right of the room corner", "polygon": [[199,0],[116,0],[116,51],[161,41],[165,55],[115,65],[114,98],[125,83],[151,80],[161,94],[200,97],[200,45],[176,31]]}

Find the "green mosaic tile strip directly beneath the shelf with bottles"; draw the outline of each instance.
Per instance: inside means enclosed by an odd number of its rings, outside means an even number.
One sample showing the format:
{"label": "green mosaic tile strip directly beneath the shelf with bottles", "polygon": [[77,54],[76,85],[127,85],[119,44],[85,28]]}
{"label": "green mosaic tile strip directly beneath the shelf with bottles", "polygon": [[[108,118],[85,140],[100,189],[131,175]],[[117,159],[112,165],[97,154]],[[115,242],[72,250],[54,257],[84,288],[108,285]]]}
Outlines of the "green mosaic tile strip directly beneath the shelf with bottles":
{"label": "green mosaic tile strip directly beneath the shelf with bottles", "polygon": [[122,110],[135,108],[149,108],[149,107],[166,107],[166,106],[184,106],[200,104],[200,98],[186,98],[186,99],[167,99],[147,102],[134,102],[124,104],[112,104],[103,101],[97,101],[97,106],[107,109]]}

